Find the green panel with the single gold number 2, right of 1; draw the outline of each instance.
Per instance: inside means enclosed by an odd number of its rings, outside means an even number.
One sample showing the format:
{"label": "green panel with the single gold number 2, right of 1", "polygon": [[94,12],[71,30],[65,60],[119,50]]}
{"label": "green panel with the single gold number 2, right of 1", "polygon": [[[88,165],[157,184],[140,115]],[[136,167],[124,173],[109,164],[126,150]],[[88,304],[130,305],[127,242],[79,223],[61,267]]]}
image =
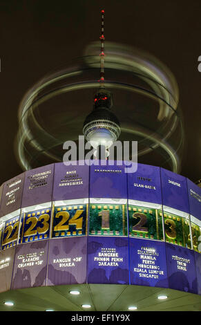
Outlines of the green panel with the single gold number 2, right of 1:
{"label": "green panel with the single gold number 2, right of 1", "polygon": [[129,236],[164,240],[162,210],[151,207],[128,205]]}

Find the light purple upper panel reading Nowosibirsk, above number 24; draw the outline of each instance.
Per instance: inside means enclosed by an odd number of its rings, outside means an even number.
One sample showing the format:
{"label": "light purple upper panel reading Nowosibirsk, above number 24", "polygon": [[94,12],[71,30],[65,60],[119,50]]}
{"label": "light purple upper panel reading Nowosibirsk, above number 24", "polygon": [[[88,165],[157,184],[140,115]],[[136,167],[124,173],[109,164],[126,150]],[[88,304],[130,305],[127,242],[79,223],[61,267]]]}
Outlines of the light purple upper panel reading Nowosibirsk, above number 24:
{"label": "light purple upper panel reading Nowosibirsk, above number 24", "polygon": [[55,164],[55,180],[52,201],[69,200],[72,198],[88,198],[89,167],[66,166]]}

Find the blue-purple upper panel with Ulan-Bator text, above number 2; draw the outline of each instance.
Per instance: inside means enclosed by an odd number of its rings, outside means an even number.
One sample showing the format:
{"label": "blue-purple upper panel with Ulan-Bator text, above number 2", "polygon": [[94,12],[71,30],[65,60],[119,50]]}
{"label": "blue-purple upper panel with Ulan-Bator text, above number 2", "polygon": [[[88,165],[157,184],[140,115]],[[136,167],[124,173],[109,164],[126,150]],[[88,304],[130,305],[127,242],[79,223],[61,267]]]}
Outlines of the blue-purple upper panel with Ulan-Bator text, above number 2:
{"label": "blue-purple upper panel with Ulan-Bator text, above number 2", "polygon": [[128,174],[128,198],[162,204],[160,167],[137,164],[137,171]]}

